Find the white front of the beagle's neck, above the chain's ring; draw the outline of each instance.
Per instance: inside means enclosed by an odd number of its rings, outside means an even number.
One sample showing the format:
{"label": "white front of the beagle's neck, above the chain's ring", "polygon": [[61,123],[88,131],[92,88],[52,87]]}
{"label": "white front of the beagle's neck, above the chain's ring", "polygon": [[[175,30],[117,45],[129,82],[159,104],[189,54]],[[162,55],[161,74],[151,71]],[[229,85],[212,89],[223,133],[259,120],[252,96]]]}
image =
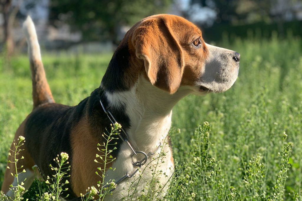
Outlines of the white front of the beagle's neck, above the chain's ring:
{"label": "white front of the beagle's neck, above the chain's ring", "polygon": [[127,129],[130,142],[140,151],[150,152],[167,142],[171,126],[172,107],[188,90],[180,88],[175,94],[169,94],[153,86],[143,75],[127,91],[110,92],[105,90],[109,110],[123,107],[130,119]]}

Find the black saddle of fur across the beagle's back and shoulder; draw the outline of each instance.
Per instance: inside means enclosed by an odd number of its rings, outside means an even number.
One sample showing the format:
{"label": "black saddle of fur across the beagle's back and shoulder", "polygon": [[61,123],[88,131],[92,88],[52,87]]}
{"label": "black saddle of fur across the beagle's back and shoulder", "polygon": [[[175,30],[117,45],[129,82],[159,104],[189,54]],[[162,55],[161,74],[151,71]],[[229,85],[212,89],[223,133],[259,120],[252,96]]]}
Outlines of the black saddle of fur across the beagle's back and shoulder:
{"label": "black saddle of fur across the beagle's back and shoulder", "polygon": [[[107,107],[108,101],[104,96],[104,91],[96,89],[91,93],[90,97],[85,98],[77,106],[47,104],[37,107],[29,115],[25,125],[25,145],[32,157],[36,159],[35,163],[40,168],[44,179],[46,179],[47,175],[52,177],[53,171],[51,171],[49,164],[55,166],[53,158],[61,152],[68,153],[68,161],[71,164],[71,171],[69,173],[72,174],[71,130],[79,123],[83,116],[87,114],[89,126],[93,134],[99,139],[99,142],[103,142],[101,135],[104,132],[111,131],[111,122],[101,107],[100,98],[104,106]],[[130,127],[130,119],[125,113],[124,106],[121,106],[119,110],[111,110],[111,113],[124,129]],[[117,144],[111,145],[109,148],[113,149],[114,146],[117,147],[112,152],[112,156],[117,157],[122,140],[117,139],[114,142],[117,142]],[[85,159],[83,158],[83,160]],[[71,183],[70,178],[68,180]],[[76,197],[70,185],[64,187],[69,188],[66,192],[66,194],[69,194],[67,199]]]}

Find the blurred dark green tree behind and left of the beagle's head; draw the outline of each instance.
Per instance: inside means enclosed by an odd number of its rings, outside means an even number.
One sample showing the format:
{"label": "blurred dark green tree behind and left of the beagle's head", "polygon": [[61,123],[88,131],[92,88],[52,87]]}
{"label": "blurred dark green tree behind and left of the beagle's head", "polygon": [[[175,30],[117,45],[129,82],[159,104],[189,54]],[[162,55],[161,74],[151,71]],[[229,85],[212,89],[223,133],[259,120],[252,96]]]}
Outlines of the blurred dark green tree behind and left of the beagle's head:
{"label": "blurred dark green tree behind and left of the beagle's head", "polygon": [[85,40],[111,40],[118,44],[120,27],[132,26],[142,18],[164,12],[172,0],[51,0],[50,22],[68,23]]}

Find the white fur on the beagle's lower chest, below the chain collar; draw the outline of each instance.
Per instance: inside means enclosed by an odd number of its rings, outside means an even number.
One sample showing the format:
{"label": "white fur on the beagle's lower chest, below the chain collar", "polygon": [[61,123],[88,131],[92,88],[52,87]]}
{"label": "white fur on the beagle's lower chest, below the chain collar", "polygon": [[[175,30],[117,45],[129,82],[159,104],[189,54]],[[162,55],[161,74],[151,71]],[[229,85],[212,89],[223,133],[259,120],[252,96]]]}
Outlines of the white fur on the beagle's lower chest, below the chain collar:
{"label": "white fur on the beagle's lower chest, below the chain collar", "polygon": [[[165,155],[160,155],[160,152],[164,152]],[[113,169],[115,171],[107,171],[107,178],[113,178],[115,180],[120,179],[126,173],[132,174],[137,167],[133,167],[132,160],[130,158],[131,151],[123,143],[121,147],[120,154],[118,155],[116,161],[113,164]],[[167,182],[172,176],[174,171],[171,149],[165,145],[163,146],[155,155],[149,157],[149,160],[145,165],[140,168],[140,171],[137,172],[133,177],[123,180],[117,185],[117,188],[114,190],[112,196],[107,196],[105,200],[137,200],[137,197],[148,194],[152,196],[151,192],[159,192],[160,195],[154,194],[153,198],[156,196],[162,197],[165,195],[165,192],[169,185]],[[140,160],[141,158],[138,158]],[[164,162],[163,162],[164,161]]]}

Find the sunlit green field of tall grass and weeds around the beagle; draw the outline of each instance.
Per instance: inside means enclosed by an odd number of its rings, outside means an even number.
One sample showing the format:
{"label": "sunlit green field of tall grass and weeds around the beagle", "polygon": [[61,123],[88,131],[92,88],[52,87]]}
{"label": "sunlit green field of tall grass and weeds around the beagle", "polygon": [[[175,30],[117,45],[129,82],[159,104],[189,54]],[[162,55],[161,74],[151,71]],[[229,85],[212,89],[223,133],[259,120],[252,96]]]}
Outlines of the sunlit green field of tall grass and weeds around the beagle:
{"label": "sunlit green field of tall grass and weeds around the beagle", "polygon": [[[239,77],[224,93],[190,95],[173,109],[177,172],[169,200],[302,200],[302,40],[273,35],[216,45],[241,54]],[[76,105],[89,96],[111,55],[42,51],[56,102]],[[0,185],[14,132],[32,109],[30,75],[27,56],[10,65],[1,57]],[[209,142],[194,132],[205,121]]]}

